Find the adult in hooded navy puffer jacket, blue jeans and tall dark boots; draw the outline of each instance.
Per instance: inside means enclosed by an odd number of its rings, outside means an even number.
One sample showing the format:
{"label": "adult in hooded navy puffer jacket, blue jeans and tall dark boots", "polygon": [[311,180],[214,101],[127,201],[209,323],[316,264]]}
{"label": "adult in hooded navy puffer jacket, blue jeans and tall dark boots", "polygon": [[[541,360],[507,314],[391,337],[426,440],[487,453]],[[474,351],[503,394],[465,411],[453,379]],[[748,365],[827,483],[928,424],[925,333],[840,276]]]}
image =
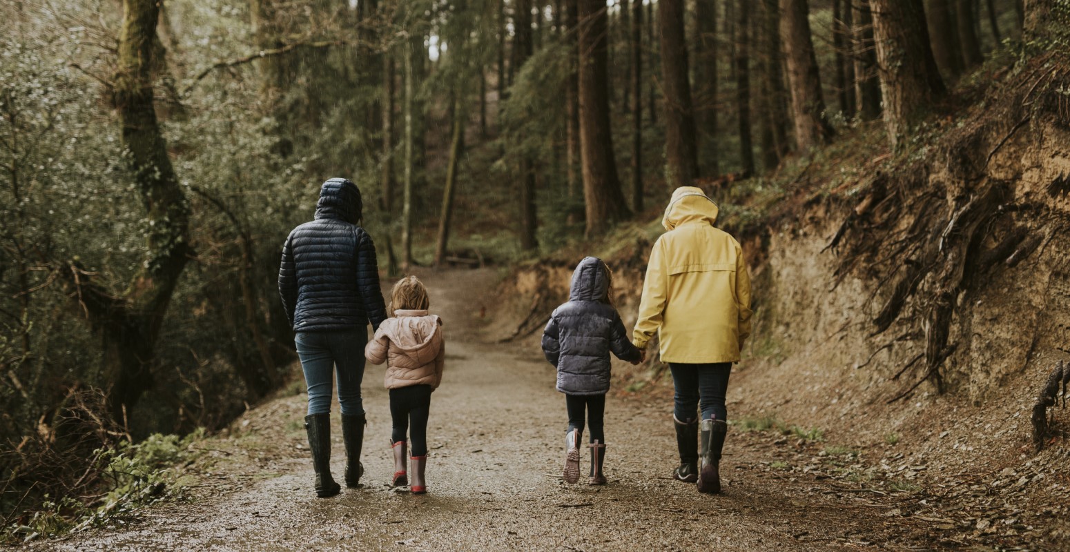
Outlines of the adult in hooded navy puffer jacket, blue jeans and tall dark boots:
{"label": "adult in hooded navy puffer jacket, blue jeans and tall dark boots", "polygon": [[362,472],[365,414],[361,400],[364,346],[372,328],[386,319],[379,288],[376,246],[358,225],[361,190],[346,179],[320,188],[316,219],[290,232],[282,246],[278,292],[296,333],[294,343],[308,386],[305,428],[316,470],[316,494],[338,494],[331,476],[331,394],[338,382],[346,486],[356,487]]}

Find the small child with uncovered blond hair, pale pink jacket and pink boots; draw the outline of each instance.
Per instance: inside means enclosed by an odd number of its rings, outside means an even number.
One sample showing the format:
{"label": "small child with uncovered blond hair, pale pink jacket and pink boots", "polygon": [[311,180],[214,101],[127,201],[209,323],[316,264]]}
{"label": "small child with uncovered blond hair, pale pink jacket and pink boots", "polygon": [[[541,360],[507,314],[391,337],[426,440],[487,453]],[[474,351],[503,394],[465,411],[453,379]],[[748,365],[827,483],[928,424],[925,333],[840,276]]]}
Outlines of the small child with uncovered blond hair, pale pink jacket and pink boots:
{"label": "small child with uncovered blond hair, pale pink jacket and pink boots", "polygon": [[386,363],[384,383],[391,394],[394,431],[395,487],[409,484],[406,466],[406,433],[412,438],[413,493],[427,492],[424,470],[427,465],[427,418],[431,392],[442,382],[446,348],[442,320],[428,315],[427,288],[415,276],[407,276],[391,292],[391,318],[380,324],[368,341],[364,355],[371,364]]}

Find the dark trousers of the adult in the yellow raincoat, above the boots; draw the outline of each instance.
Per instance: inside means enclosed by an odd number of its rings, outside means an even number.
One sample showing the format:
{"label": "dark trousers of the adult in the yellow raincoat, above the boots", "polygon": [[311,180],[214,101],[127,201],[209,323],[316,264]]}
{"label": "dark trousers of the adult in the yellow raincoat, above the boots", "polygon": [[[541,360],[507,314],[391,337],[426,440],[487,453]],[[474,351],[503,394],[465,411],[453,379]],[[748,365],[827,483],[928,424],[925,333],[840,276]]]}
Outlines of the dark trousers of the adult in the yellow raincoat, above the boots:
{"label": "dark trousers of the adult in the yellow raincoat, above the boots", "polygon": [[732,363],[679,364],[669,363],[672,383],[676,388],[673,415],[683,423],[696,419],[696,409],[702,408],[702,419],[728,421],[724,396],[729,390]]}

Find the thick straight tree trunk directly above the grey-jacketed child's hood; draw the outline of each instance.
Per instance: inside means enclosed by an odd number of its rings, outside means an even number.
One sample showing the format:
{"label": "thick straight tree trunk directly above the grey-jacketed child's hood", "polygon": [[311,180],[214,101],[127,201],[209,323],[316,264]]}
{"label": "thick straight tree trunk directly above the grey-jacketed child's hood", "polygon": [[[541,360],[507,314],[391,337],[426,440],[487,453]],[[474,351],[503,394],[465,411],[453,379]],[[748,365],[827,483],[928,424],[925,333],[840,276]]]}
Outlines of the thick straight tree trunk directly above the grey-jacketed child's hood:
{"label": "thick straight tree trunk directly above the grey-jacketed child's hood", "polygon": [[579,1],[580,157],[587,235],[602,233],[630,215],[613,158],[606,19],[605,0]]}

